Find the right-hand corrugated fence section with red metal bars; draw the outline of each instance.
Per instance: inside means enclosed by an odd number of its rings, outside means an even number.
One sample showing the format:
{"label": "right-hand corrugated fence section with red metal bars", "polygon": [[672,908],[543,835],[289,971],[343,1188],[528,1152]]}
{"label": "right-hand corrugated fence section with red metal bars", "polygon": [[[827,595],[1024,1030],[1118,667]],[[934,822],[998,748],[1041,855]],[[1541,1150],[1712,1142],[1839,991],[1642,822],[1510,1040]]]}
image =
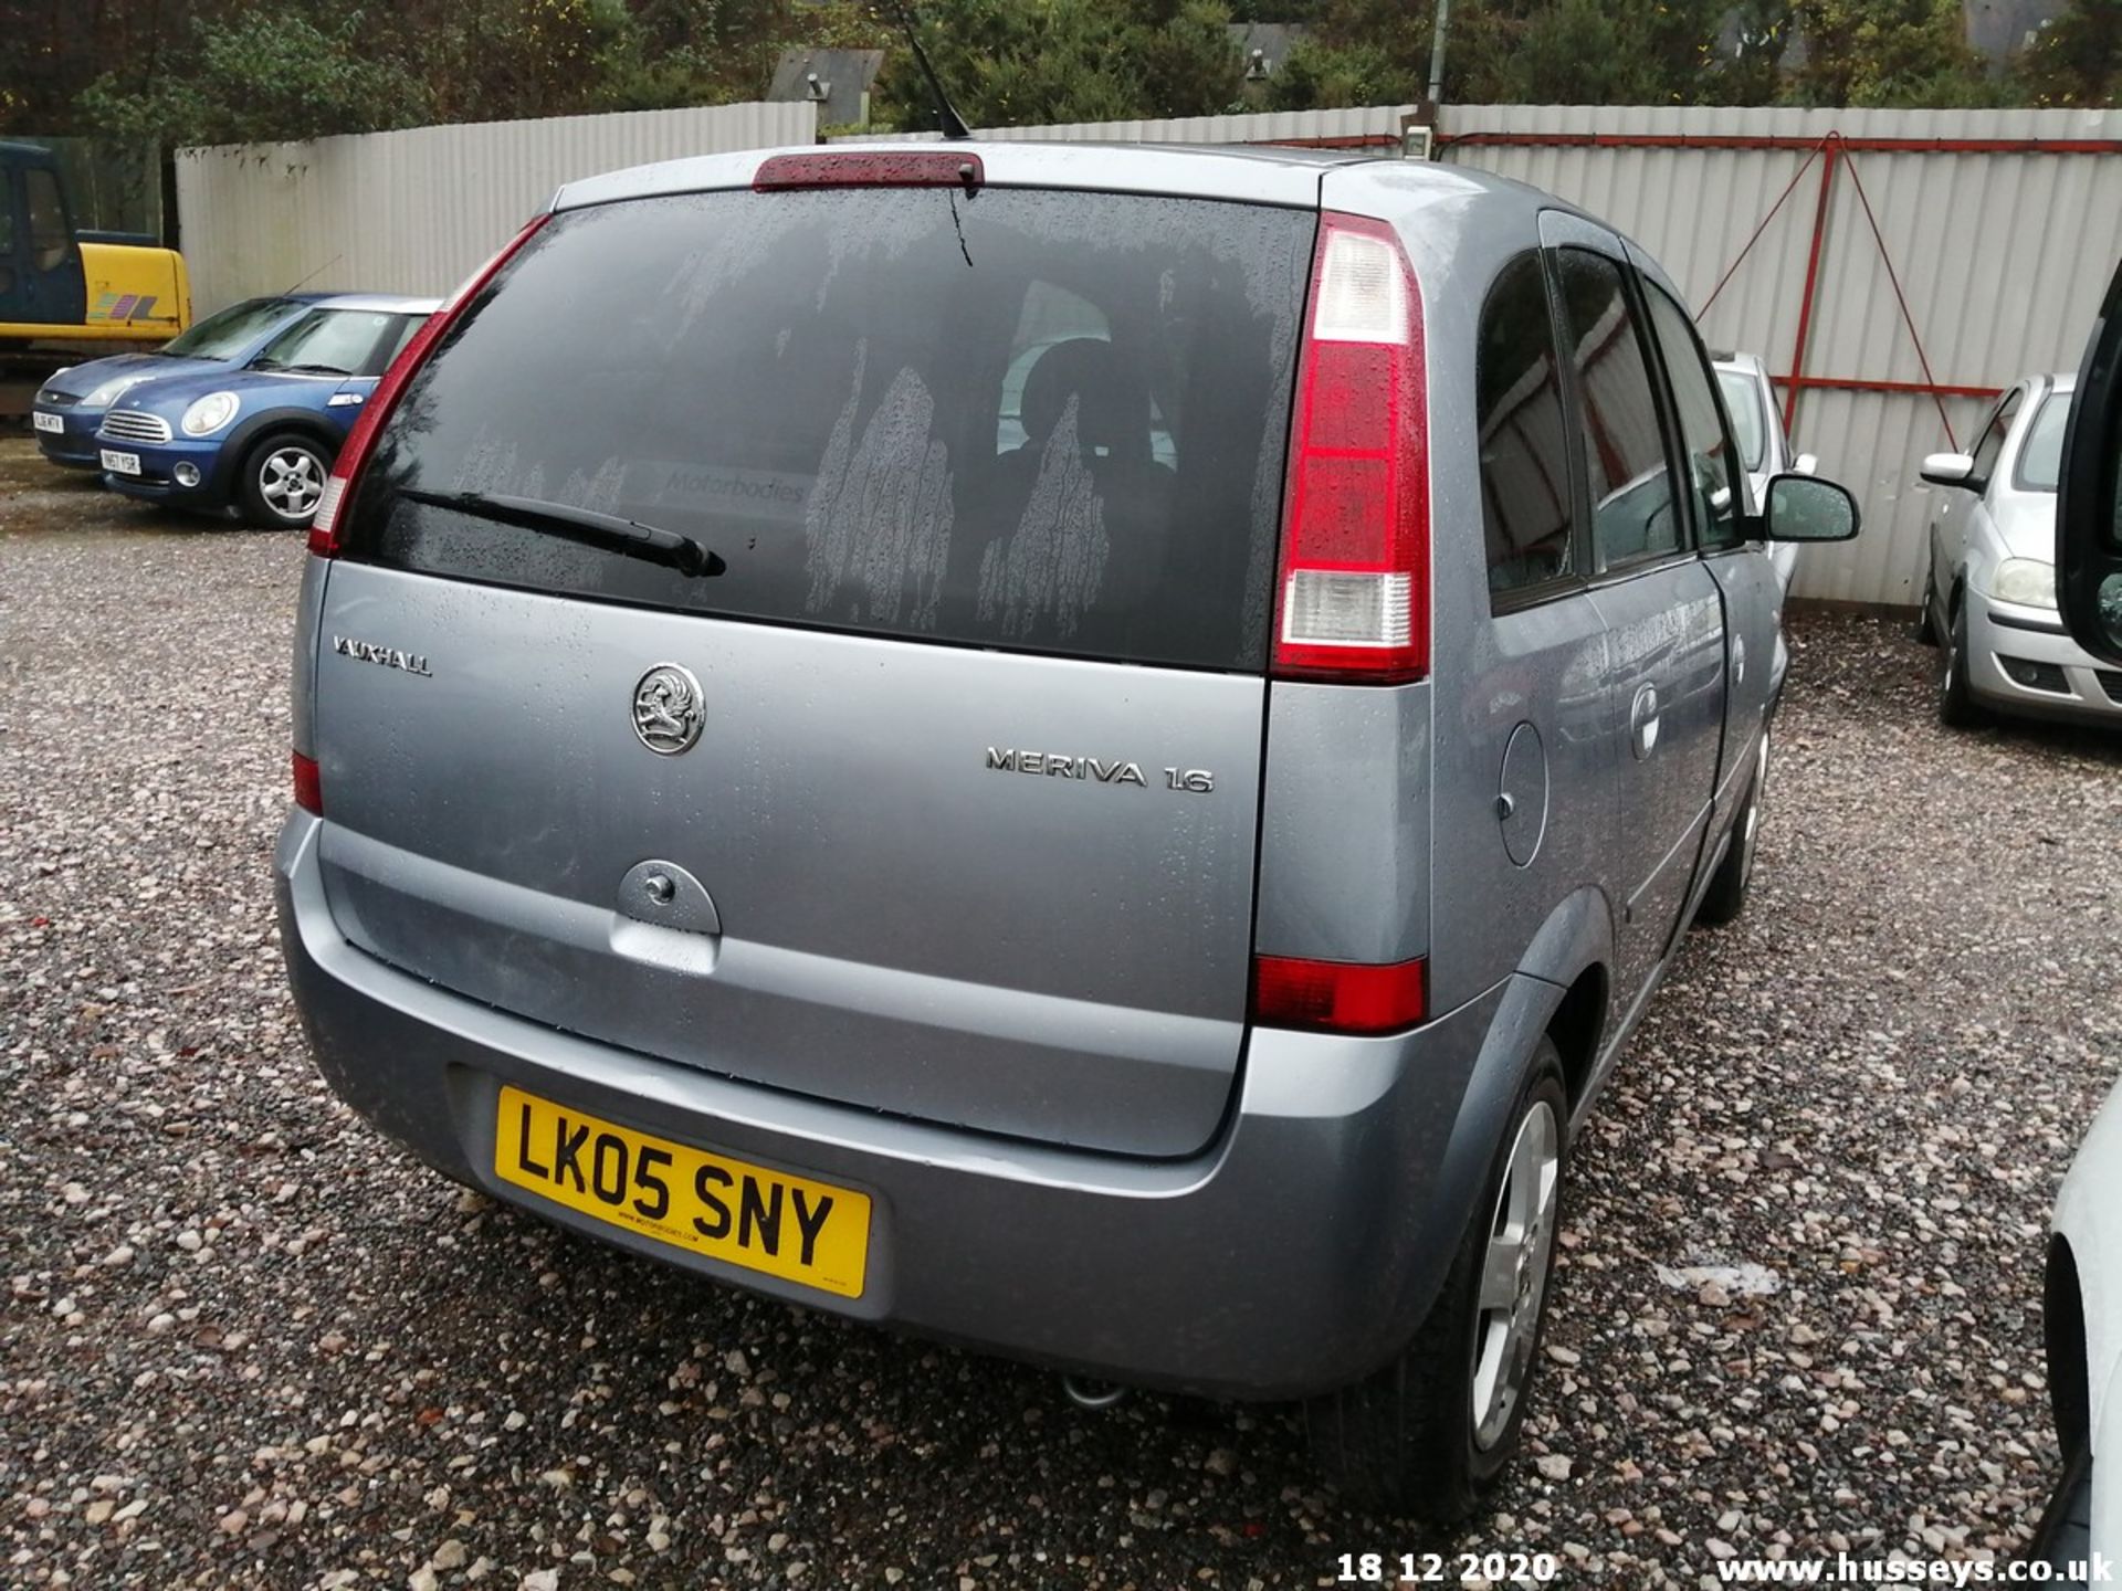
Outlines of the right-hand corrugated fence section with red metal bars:
{"label": "right-hand corrugated fence section with red metal bars", "polygon": [[1973,390],[2075,369],[2122,257],[2114,110],[1462,106],[1441,132],[1447,161],[1532,182],[1630,233],[1698,312],[1789,189],[1700,314],[1712,348],[1757,352],[1778,378],[1793,373],[1806,310],[1823,140],[1840,134],[1802,371],[1836,386],[1799,390],[1793,441],[1857,492],[1865,532],[1806,549],[1799,596],[1914,600],[1935,490],[1916,475],[1923,454],[1948,445],[1946,418],[1971,441],[1988,409]]}

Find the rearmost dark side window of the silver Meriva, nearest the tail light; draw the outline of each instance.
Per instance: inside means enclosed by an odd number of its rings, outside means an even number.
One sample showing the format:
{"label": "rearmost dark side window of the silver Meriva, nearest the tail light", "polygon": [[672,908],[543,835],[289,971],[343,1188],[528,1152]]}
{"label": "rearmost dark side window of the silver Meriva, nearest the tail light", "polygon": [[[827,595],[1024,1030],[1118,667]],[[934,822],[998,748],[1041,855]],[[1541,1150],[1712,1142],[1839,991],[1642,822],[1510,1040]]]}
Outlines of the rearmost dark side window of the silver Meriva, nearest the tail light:
{"label": "rearmost dark side window of the silver Meriva, nearest the tail light", "polygon": [[1481,305],[1477,382],[1488,588],[1500,596],[1575,569],[1562,363],[1536,252],[1511,261]]}

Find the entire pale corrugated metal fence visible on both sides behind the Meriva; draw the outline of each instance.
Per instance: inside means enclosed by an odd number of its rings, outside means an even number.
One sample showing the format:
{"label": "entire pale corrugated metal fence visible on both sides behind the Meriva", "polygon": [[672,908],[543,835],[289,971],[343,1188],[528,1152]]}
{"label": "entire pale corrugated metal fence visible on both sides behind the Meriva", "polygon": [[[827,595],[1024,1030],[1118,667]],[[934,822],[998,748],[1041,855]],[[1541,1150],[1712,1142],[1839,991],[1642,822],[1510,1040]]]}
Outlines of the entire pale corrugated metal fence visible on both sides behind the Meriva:
{"label": "entire pale corrugated metal fence visible on both sides behind the Meriva", "polygon": [[[1362,106],[980,136],[1390,155],[1409,112]],[[202,310],[312,274],[320,284],[443,293],[564,180],[813,138],[808,104],[758,104],[182,151],[178,208]],[[1946,448],[1948,422],[1969,441],[1982,392],[2073,367],[2122,255],[2122,112],[2111,110],[1456,106],[1443,112],[1439,155],[1604,216],[1666,265],[1712,348],[1744,348],[1778,378],[1804,378],[1793,439],[1859,494],[1867,528],[1844,547],[1806,549],[1802,596],[1912,600],[1931,507],[1931,488],[1916,479],[1923,454]]]}

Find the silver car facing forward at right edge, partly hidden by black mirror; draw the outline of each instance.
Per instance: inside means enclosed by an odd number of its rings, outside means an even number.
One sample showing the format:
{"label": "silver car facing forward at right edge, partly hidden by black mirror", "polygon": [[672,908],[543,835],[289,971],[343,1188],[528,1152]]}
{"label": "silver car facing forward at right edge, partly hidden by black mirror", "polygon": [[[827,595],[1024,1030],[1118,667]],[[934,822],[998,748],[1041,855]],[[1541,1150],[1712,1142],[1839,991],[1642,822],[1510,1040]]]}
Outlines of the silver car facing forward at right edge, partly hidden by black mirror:
{"label": "silver car facing forward at right edge, partly hidden by black mirror", "polygon": [[1931,454],[1937,486],[1918,634],[1937,645],[1937,715],[2122,723],[2122,670],[2094,662],[2056,613],[2056,477],[2073,375],[2029,375],[1990,409],[1971,454]]}

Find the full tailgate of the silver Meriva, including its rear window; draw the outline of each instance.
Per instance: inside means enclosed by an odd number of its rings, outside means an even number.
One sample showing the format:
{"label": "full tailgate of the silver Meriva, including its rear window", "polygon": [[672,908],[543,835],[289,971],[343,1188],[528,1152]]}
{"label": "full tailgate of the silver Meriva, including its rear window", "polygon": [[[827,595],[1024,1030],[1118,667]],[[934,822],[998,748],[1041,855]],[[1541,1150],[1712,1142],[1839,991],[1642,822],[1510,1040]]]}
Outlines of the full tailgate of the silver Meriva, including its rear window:
{"label": "full tailgate of the silver Meriva, including its rear window", "polygon": [[346,936],[673,1063],[1199,1150],[1314,227],[955,189],[558,216],[348,499]]}

